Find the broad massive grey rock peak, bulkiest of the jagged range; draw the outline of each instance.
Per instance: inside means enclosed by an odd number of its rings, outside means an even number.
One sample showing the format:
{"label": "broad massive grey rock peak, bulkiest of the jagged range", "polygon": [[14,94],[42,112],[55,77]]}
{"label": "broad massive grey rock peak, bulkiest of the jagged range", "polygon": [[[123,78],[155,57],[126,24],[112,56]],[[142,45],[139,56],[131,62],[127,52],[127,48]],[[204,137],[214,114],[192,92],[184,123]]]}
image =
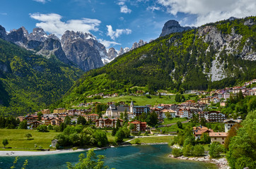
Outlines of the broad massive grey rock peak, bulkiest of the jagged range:
{"label": "broad massive grey rock peak, bulkiest of the jagged range", "polygon": [[66,31],[62,35],[62,49],[69,61],[78,65],[81,70],[88,71],[103,66],[102,56],[107,56],[103,44],[93,35],[83,32]]}

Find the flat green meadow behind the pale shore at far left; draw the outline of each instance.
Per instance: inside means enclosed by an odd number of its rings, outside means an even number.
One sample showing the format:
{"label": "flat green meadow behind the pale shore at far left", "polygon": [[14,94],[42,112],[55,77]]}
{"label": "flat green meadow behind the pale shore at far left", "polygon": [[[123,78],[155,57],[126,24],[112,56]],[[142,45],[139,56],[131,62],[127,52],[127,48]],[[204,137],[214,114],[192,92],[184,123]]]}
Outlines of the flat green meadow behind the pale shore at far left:
{"label": "flat green meadow behind the pale shore at far left", "polygon": [[[30,133],[32,137],[28,140],[25,134]],[[0,129],[0,144],[2,144],[3,139],[8,139],[8,145],[6,147],[12,147],[8,150],[18,150],[18,149],[35,149],[35,144],[37,146],[42,146],[42,149],[49,149],[52,144],[52,139],[59,132],[37,132],[37,130],[17,130],[17,129]],[[0,150],[6,150],[1,149]]]}

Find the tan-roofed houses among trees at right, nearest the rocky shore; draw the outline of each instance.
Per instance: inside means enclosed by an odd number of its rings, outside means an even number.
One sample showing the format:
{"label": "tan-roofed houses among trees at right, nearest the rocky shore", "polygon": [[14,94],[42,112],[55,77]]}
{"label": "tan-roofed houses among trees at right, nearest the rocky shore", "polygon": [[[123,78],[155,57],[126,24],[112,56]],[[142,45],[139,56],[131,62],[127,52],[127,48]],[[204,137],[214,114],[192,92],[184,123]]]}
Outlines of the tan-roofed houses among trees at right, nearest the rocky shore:
{"label": "tan-roofed houses among trees at right, nearest the rocky shore", "polygon": [[211,142],[225,143],[226,137],[228,137],[228,130],[231,130],[236,123],[241,123],[242,120],[226,119],[223,121],[225,126],[225,132],[214,132],[214,130],[208,129],[204,126],[193,127],[193,134],[195,139],[201,139],[202,134],[207,133],[211,138]]}

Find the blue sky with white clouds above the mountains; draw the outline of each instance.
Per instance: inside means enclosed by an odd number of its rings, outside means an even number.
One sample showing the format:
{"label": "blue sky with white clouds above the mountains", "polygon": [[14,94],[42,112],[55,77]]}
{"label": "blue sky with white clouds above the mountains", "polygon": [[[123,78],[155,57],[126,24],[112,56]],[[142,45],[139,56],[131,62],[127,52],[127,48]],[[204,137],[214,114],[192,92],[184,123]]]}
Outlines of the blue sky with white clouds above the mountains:
{"label": "blue sky with white clouds above the mountains", "polygon": [[0,25],[7,31],[42,27],[59,37],[65,30],[91,32],[119,50],[139,39],[156,39],[170,19],[199,26],[256,15],[255,8],[255,0],[1,0]]}

